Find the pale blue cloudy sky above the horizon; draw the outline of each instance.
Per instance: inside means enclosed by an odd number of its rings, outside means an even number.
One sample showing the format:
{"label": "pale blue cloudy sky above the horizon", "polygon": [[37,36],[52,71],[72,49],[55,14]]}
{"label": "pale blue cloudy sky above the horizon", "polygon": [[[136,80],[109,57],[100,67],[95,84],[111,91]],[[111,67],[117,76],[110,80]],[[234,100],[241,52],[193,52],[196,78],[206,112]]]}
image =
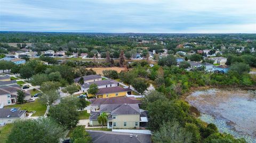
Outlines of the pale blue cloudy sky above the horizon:
{"label": "pale blue cloudy sky above the horizon", "polygon": [[256,0],[0,0],[0,31],[256,33]]}

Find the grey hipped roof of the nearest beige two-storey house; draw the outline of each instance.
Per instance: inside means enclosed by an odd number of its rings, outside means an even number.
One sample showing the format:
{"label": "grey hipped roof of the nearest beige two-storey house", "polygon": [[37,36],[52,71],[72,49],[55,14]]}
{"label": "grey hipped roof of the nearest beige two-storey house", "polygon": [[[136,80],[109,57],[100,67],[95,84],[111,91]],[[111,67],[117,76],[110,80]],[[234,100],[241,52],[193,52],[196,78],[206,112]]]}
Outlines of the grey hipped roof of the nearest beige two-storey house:
{"label": "grey hipped roof of the nearest beige two-storey house", "polygon": [[140,114],[138,104],[103,104],[99,112],[111,112],[111,115]]}

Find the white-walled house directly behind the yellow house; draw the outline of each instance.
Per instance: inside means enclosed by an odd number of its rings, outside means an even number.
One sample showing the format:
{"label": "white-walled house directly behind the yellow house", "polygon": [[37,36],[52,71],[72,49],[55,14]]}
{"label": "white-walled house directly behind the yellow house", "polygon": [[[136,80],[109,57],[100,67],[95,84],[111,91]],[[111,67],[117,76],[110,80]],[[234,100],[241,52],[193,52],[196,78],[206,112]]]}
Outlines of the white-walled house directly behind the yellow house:
{"label": "white-walled house directly behind the yellow house", "polygon": [[119,82],[115,80],[99,80],[99,81],[93,81],[93,82],[86,82],[81,86],[81,90],[83,92],[86,92],[90,85],[96,84],[98,88],[106,88],[106,87],[117,87],[119,86]]}

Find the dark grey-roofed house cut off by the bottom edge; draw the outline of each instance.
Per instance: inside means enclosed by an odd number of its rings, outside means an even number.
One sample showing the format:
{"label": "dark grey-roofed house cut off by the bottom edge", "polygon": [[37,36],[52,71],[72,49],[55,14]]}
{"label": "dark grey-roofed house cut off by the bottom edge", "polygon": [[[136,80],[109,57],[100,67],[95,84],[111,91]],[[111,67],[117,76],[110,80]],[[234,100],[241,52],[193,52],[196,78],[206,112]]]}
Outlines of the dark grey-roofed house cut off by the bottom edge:
{"label": "dark grey-roofed house cut off by the bottom edge", "polygon": [[150,143],[150,134],[86,130],[93,143]]}

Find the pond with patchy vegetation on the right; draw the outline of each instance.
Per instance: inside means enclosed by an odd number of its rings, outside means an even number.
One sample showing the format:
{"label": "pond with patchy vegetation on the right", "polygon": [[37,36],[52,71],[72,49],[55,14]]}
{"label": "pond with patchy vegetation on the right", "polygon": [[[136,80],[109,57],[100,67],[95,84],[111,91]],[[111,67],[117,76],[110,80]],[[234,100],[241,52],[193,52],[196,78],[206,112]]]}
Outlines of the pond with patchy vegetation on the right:
{"label": "pond with patchy vegetation on the right", "polygon": [[201,120],[214,123],[220,132],[256,143],[256,99],[248,91],[199,90],[186,100],[201,112]]}

